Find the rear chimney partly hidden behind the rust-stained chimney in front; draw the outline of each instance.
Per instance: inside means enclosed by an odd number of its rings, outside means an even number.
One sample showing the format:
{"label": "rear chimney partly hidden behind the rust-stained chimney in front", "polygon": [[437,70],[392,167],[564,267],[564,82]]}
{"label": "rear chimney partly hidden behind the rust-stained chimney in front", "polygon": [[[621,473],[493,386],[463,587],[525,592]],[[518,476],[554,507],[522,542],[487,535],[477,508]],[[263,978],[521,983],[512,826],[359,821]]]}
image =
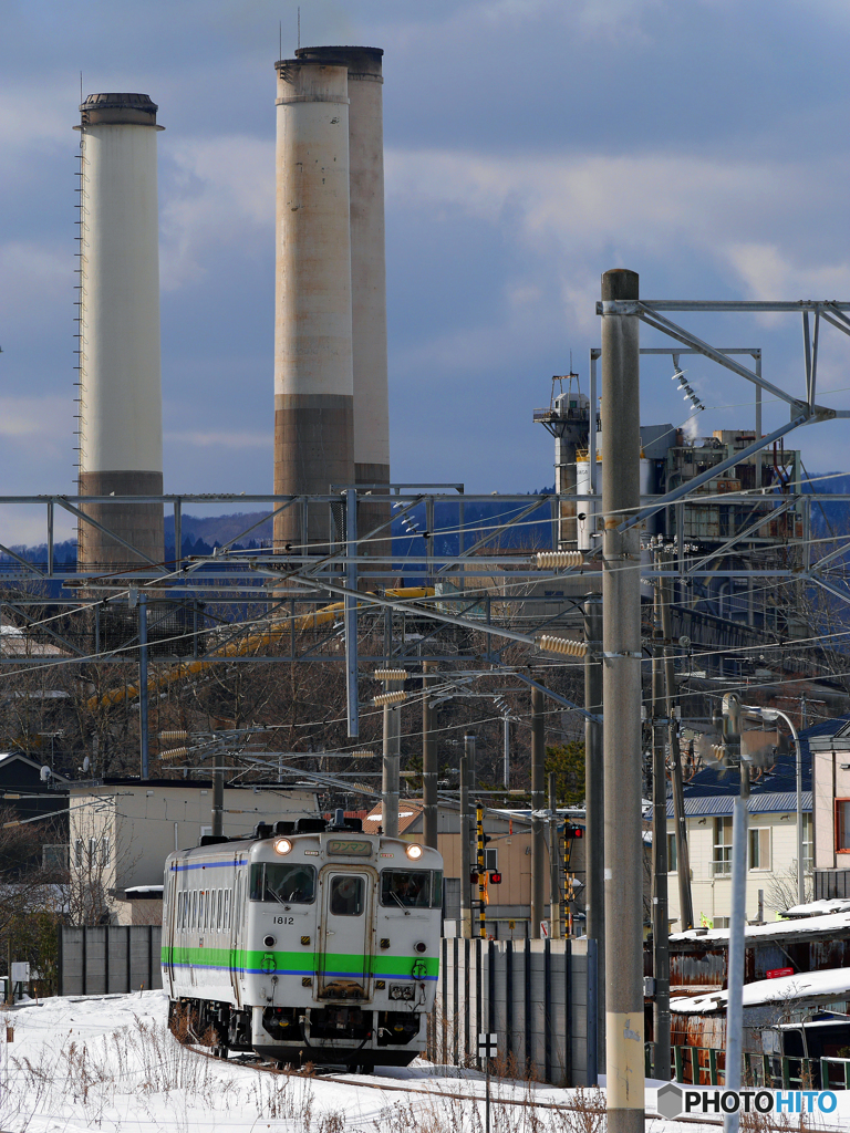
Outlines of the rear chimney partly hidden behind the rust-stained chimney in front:
{"label": "rear chimney partly hidden behind the rust-stained chimney in front", "polygon": [[[389,484],[383,51],[381,48],[299,48],[296,56],[301,60],[341,65],[348,70],[355,480],[357,484]],[[357,530],[366,535],[389,518],[389,504],[362,500]],[[373,545],[363,550],[376,553],[377,548]],[[385,550],[389,551],[389,544]]]}

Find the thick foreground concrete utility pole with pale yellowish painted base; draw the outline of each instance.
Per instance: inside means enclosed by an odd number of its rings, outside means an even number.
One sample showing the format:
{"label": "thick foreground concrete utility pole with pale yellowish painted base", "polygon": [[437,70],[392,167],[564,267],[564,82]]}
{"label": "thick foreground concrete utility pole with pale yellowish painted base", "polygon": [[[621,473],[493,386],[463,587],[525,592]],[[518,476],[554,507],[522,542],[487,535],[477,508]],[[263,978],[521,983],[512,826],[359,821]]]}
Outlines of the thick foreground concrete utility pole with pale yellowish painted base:
{"label": "thick foreground concrete utility pole with pale yellowish painted base", "polygon": [[638,275],[602,276],[603,701],[605,705],[605,997],[609,1133],[644,1131],[644,867],[640,742],[640,351]]}

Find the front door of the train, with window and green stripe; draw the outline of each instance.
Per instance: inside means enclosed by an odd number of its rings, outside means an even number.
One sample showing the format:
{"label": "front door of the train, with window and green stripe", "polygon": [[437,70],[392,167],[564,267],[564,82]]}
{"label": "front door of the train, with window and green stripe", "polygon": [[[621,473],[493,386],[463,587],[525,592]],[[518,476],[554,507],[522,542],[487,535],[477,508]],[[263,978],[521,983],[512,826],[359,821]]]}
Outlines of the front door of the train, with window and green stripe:
{"label": "front door of the train, with window and green stripe", "polygon": [[374,884],[365,869],[325,866],[316,998],[369,999]]}

